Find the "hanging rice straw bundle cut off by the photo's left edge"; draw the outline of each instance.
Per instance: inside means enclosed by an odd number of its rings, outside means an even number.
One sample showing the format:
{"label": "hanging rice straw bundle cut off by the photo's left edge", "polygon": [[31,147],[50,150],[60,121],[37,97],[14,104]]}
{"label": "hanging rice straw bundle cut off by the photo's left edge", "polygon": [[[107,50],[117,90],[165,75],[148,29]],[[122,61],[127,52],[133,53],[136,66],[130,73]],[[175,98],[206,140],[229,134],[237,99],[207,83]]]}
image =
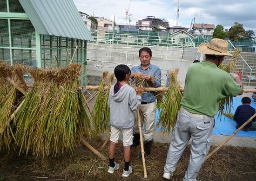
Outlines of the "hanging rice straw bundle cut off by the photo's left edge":
{"label": "hanging rice straw bundle cut off by the photo's left edge", "polygon": [[7,77],[14,80],[20,85],[14,69],[24,75],[27,71],[26,66],[16,64],[15,67],[5,65],[0,62],[0,150],[2,148],[10,150],[12,141],[12,130],[10,129],[10,116],[14,112],[15,107],[22,99],[22,94],[7,81]]}

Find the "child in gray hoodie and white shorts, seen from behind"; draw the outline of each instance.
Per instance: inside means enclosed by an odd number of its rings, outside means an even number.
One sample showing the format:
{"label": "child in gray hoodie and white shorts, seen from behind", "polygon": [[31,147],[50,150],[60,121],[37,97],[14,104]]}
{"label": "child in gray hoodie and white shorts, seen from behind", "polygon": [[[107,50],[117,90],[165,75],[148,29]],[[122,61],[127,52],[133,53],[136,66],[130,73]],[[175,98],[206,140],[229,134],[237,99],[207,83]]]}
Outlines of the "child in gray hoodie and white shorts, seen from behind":
{"label": "child in gray hoodie and white shorts, seen from behind", "polygon": [[[134,114],[141,104],[141,94],[143,87],[140,85],[133,87],[128,85],[131,70],[127,65],[118,65],[114,70],[117,83],[111,86],[108,96],[108,107],[110,109],[110,144],[109,144],[109,167],[108,173],[114,173],[120,165],[114,162],[115,146],[118,143],[119,134],[123,135],[124,149],[124,169],[122,176],[128,177],[132,173],[132,167],[129,166],[131,150],[133,143]],[[137,94],[137,95],[136,95]]]}

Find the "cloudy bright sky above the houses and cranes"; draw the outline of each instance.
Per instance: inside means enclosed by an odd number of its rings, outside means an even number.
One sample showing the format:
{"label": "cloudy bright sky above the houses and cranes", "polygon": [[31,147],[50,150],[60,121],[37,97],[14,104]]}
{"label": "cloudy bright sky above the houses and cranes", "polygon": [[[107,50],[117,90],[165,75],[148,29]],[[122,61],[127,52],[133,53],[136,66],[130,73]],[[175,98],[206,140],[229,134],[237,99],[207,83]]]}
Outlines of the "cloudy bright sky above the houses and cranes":
{"label": "cloudy bright sky above the houses and cranes", "polygon": [[[73,0],[78,11],[89,16],[115,20],[116,24],[130,25],[154,16],[167,19],[170,27],[177,24],[178,0]],[[256,0],[179,0],[178,26],[189,28],[194,23],[222,25],[229,29],[235,22],[245,31],[256,34]],[[195,21],[194,21],[195,18]]]}

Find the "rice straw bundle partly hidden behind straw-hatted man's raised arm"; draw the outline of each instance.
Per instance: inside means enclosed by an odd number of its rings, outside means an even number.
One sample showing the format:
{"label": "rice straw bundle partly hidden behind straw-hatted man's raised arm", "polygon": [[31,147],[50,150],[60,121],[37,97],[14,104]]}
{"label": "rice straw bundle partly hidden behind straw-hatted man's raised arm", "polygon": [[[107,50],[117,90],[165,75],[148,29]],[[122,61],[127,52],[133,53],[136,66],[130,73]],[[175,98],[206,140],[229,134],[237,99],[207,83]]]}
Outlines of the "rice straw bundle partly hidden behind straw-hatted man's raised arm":
{"label": "rice straw bundle partly hidden behind straw-hatted man's raised arm", "polygon": [[[219,66],[219,68],[228,73],[231,73],[231,72],[236,73],[237,72],[236,71],[236,59],[240,55],[240,53],[241,53],[240,50],[235,49],[234,55],[233,55],[234,57],[232,58],[232,60],[227,64],[221,64],[221,66]],[[233,107],[233,96],[226,96],[225,98],[223,98],[219,104],[218,117],[222,116],[224,110],[225,110],[226,114],[230,114],[232,107]]]}

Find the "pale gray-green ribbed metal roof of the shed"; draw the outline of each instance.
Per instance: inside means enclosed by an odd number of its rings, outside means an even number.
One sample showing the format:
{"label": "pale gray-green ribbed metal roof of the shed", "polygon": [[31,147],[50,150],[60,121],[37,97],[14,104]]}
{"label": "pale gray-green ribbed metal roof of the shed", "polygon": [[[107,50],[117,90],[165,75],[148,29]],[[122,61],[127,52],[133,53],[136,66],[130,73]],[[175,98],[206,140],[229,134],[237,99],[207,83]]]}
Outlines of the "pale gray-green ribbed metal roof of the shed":
{"label": "pale gray-green ribbed metal roof of the shed", "polygon": [[38,34],[93,41],[73,0],[19,1]]}

